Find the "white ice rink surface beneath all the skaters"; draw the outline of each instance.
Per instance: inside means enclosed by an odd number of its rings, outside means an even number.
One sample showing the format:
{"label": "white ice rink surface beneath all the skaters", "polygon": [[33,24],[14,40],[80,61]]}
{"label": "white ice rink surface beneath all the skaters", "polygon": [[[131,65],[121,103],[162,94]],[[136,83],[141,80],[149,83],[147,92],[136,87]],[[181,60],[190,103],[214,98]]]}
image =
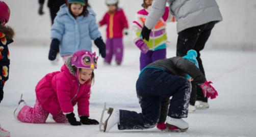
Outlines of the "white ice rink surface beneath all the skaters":
{"label": "white ice rink surface beneath all the skaters", "polygon": [[[53,66],[47,60],[48,47],[9,46],[10,79],[6,82],[5,97],[1,103],[0,123],[11,131],[12,137],[45,136],[255,136],[256,135],[256,53],[203,51],[202,59],[207,79],[218,90],[217,99],[210,100],[210,109],[196,110],[185,119],[189,122],[187,132],[170,133],[157,128],[148,130],[124,130],[117,127],[109,133],[98,131],[98,125],[71,126],[57,124],[48,119],[46,124],[29,124],[16,121],[13,111],[20,94],[33,106],[35,86],[47,73],[58,71],[59,65]],[[98,51],[97,49],[94,49]],[[173,49],[168,49],[168,57],[175,56]],[[104,102],[107,106],[140,112],[135,83],[139,75],[139,50],[126,48],[121,66],[112,62],[111,66],[98,60],[95,70],[95,83],[90,99],[90,117],[99,120]],[[75,112],[77,115],[77,113]]]}

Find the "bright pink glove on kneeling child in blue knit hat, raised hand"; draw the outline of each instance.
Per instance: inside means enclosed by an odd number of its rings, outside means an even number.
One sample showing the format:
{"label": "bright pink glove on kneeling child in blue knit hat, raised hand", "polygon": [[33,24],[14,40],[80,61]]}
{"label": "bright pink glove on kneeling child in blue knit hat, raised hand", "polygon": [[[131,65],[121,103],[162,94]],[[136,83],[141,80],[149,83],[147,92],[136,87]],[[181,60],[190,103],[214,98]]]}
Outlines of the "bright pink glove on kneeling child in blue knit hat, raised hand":
{"label": "bright pink glove on kneeling child in blue knit hat, raised hand", "polygon": [[202,83],[200,86],[200,88],[202,89],[202,93],[204,97],[208,97],[211,99],[216,98],[216,96],[218,96],[218,92],[215,90],[215,88],[211,85],[212,82],[211,81],[204,81],[204,83]]}

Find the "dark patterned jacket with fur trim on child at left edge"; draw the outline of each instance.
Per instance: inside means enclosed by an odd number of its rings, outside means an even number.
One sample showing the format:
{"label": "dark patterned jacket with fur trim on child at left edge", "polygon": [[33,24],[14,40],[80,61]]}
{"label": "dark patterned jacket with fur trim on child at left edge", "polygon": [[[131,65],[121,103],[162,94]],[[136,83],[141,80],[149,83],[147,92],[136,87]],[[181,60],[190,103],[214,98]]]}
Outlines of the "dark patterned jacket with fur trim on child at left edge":
{"label": "dark patterned jacket with fur trim on child at left edge", "polygon": [[[8,32],[11,31],[11,32]],[[7,33],[5,33],[7,32]],[[3,89],[5,82],[9,79],[9,49],[8,44],[12,43],[13,30],[10,27],[0,25],[0,88]]]}

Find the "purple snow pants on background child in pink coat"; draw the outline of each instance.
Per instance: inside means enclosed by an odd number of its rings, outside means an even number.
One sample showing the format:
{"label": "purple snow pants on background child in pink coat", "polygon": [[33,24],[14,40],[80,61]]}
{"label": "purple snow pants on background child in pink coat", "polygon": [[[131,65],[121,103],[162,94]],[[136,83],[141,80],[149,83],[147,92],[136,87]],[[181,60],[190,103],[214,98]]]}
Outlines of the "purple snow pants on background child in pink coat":
{"label": "purple snow pants on background child in pink coat", "polygon": [[111,63],[113,55],[116,63],[121,64],[123,59],[123,39],[122,38],[107,38],[106,42],[106,57],[104,62]]}

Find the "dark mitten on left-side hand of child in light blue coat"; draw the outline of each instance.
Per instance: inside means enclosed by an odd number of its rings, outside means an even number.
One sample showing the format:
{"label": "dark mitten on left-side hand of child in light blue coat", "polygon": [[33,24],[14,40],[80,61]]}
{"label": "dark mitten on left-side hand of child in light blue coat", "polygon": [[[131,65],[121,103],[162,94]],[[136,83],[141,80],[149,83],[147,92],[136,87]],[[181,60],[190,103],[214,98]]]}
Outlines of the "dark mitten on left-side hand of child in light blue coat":
{"label": "dark mitten on left-side hand of child in light blue coat", "polygon": [[53,39],[52,43],[50,43],[50,51],[49,51],[49,55],[48,55],[48,59],[49,60],[55,60],[57,53],[59,52],[59,45],[60,45],[60,41],[58,39]]}

